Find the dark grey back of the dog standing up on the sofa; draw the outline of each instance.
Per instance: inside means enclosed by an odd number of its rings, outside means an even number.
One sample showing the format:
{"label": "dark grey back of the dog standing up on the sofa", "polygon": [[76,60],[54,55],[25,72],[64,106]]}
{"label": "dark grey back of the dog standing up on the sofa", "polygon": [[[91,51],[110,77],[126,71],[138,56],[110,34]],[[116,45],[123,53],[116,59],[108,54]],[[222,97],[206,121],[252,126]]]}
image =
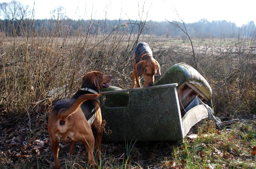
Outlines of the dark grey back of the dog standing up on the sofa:
{"label": "dark grey back of the dog standing up on the sofa", "polygon": [[149,45],[145,42],[141,42],[134,48],[132,52],[133,55],[136,55],[136,63],[139,63],[141,56],[145,53],[148,53],[153,57],[153,52]]}

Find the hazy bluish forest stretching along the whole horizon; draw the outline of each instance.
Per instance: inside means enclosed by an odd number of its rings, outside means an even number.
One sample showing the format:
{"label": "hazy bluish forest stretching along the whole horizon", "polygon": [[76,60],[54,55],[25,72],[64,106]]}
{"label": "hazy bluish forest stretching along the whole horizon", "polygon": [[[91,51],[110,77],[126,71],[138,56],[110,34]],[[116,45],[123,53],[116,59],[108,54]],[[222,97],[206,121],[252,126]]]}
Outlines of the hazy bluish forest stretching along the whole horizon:
{"label": "hazy bluish forest stretching along the whole horizon", "polygon": [[[0,20],[1,32],[8,33],[9,35],[22,36],[21,28],[26,28],[26,33],[35,34],[42,33],[42,29],[47,28],[46,34],[51,34],[54,28],[58,25],[61,30],[68,29],[70,35],[74,35],[78,29],[83,27],[82,32],[87,32],[90,29],[90,33],[105,33],[110,34],[112,31],[122,32],[122,30],[128,28],[127,33],[135,33],[139,30],[140,20],[72,20],[69,18],[61,19],[2,19]],[[145,22],[145,28],[143,34],[166,36],[166,37],[182,37],[183,31],[169,23],[169,21],[143,21]],[[172,21],[175,22],[176,21]],[[179,25],[182,22],[177,21]],[[240,32],[243,32],[243,36],[253,36],[256,28],[253,21],[248,22],[241,27],[236,26],[232,22],[226,20],[208,21],[207,19],[201,19],[194,23],[185,23],[188,34],[191,37],[202,38],[219,38],[219,37],[238,37]],[[119,27],[117,27],[119,25]],[[90,26],[90,28],[89,28]],[[184,27],[183,27],[184,28]],[[13,31],[15,30],[15,31]],[[41,34],[42,35],[42,34]]]}

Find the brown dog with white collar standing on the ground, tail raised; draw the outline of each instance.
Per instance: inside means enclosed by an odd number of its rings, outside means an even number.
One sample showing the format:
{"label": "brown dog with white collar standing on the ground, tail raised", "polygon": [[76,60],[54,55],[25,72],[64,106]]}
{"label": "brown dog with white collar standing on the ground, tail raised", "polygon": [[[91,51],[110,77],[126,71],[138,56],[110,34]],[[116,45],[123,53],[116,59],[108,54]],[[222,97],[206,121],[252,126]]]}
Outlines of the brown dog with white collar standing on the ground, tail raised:
{"label": "brown dog with white collar standing on the ground, tail raised", "polygon": [[96,130],[96,157],[101,156],[101,111],[98,94],[101,88],[108,88],[113,76],[100,72],[88,72],[83,77],[82,89],[73,97],[58,101],[48,119],[48,132],[51,137],[51,149],[54,155],[54,168],[60,168],[58,159],[59,142],[70,142],[69,153],[74,154],[75,142],[85,144],[88,164],[96,167],[94,160],[94,135],[91,127]]}

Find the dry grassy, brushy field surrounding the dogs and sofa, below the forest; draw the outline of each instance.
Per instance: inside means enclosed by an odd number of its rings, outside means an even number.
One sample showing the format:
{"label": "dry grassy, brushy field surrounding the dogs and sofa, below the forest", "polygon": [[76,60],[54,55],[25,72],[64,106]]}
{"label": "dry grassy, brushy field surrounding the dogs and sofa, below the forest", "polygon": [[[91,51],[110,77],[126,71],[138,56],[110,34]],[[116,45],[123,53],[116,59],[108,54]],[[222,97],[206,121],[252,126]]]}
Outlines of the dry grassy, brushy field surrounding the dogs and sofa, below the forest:
{"label": "dry grassy, brushy field surrounding the dogs and sofa, below the forest", "polygon": [[[150,45],[162,74],[175,63],[196,67],[212,87],[215,115],[240,122],[222,130],[207,122],[198,128],[198,138],[183,143],[105,143],[99,168],[256,168],[255,36],[194,37],[195,62],[190,42],[179,37],[144,35],[140,30],[127,34],[125,29],[79,36],[66,31],[0,34],[1,168],[52,167],[46,117],[53,105],[75,93],[82,76],[92,70],[113,75],[113,86],[130,88],[131,52],[138,42]],[[63,86],[64,94],[49,95]],[[88,167],[84,145],[77,144],[78,154],[69,159],[68,147],[61,147],[63,168]]]}

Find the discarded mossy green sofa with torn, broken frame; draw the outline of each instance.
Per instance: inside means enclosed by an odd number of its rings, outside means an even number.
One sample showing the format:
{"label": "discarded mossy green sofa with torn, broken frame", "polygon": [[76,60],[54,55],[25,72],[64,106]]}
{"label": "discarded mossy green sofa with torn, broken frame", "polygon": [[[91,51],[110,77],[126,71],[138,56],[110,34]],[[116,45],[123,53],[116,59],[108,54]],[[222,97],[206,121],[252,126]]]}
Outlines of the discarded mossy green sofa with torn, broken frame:
{"label": "discarded mossy green sofa with torn, broken frame", "polygon": [[102,119],[112,134],[104,141],[181,141],[190,128],[214,117],[207,80],[185,63],[173,65],[155,86],[101,92]]}

